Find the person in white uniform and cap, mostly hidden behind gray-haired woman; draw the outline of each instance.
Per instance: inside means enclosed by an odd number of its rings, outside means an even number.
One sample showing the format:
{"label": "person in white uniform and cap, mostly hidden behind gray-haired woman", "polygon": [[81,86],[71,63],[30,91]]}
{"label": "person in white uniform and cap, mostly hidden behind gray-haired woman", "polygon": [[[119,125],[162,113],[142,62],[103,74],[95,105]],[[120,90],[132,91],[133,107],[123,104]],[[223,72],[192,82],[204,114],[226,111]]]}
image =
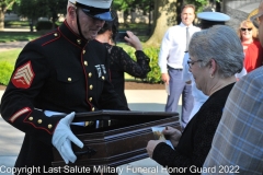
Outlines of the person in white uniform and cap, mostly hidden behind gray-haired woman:
{"label": "person in white uniform and cap, mostly hidden behind gray-haired woman", "polygon": [[[197,13],[197,18],[199,20],[199,27],[202,30],[209,28],[214,25],[225,25],[225,22],[230,20],[230,16],[220,12],[201,12]],[[196,88],[194,77],[192,72],[190,72],[190,67],[187,65],[190,57],[188,52],[186,51],[184,55],[183,60],[183,80],[185,82],[190,82],[192,84],[192,95],[194,97],[194,107],[191,112],[188,121],[192,119],[192,117],[199,110],[201,106],[206,102],[208,98],[207,95],[205,95],[201,90]],[[188,122],[187,121],[187,122]]]}

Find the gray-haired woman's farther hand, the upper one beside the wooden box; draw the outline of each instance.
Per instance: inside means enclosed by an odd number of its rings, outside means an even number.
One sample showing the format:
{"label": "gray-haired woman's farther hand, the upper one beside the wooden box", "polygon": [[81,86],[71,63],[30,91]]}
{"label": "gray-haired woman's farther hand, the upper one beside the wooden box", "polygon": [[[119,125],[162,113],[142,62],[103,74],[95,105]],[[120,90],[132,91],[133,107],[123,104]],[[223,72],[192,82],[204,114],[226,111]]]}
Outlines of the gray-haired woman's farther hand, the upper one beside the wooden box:
{"label": "gray-haired woman's farther hand, the upper one beside the wooden box", "polygon": [[162,133],[169,138],[169,140],[172,142],[173,147],[176,148],[180,138],[182,137],[182,132],[175,128],[167,127]]}

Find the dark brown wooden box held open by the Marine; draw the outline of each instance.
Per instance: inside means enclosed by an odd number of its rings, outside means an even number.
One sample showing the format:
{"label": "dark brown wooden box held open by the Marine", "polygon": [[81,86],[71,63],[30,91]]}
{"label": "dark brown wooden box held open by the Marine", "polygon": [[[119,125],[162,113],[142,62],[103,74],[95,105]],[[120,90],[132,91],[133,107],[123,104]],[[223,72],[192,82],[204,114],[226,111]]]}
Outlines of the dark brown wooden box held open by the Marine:
{"label": "dark brown wooden box held open by the Marine", "polygon": [[[78,159],[68,164],[69,166],[116,167],[146,159],[147,143],[155,140],[151,127],[172,126],[180,129],[179,114],[164,112],[99,110],[77,114],[73,121],[88,121],[93,125],[82,127],[83,133],[76,133],[84,148],[79,149],[72,144]],[[64,165],[65,162],[54,149],[53,166]]]}

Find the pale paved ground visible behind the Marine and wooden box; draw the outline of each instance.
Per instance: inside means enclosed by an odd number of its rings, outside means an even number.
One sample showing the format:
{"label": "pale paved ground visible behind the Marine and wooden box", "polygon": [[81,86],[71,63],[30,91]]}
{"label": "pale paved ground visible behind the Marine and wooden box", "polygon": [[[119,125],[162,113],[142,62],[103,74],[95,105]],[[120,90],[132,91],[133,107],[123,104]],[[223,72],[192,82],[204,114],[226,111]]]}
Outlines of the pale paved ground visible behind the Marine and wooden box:
{"label": "pale paved ground visible behind the Marine and wooden box", "polygon": [[[3,91],[0,91],[0,98]],[[167,94],[165,90],[126,90],[132,110],[163,112]],[[181,105],[181,103],[180,103]],[[181,106],[180,106],[181,107]],[[13,167],[23,141],[24,133],[11,127],[0,117],[0,175],[10,175],[7,170]],[[121,166],[124,175],[168,175],[161,166],[151,159],[145,159]],[[127,167],[152,167],[157,172],[132,172]]]}

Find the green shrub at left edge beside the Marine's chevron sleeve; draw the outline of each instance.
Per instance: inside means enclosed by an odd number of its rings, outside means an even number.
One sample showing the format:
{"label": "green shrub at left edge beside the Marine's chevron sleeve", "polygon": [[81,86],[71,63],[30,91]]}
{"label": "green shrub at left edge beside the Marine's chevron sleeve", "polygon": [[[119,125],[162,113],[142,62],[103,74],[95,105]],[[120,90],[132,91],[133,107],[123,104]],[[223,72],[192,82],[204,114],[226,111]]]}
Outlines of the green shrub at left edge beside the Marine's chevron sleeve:
{"label": "green shrub at left edge beside the Marine's chevron sleeve", "polygon": [[0,84],[8,85],[13,69],[14,68],[11,63],[7,61],[0,62]]}

